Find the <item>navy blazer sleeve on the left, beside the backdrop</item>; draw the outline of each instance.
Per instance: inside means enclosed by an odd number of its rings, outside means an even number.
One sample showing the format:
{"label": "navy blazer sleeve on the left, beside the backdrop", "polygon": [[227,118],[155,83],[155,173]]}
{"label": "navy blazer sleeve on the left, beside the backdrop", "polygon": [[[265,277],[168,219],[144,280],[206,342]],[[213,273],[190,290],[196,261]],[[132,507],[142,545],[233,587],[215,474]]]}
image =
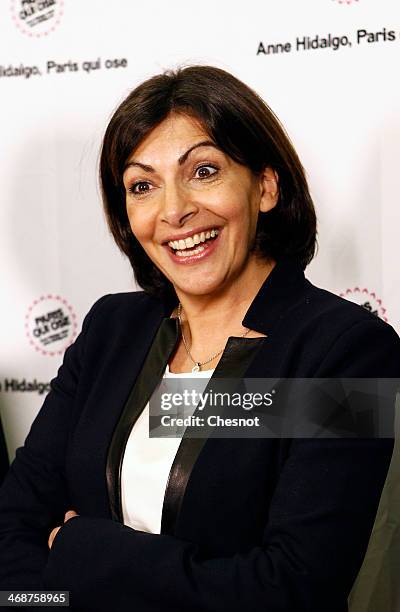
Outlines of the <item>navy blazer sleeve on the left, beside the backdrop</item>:
{"label": "navy blazer sleeve on the left, beside the backdrop", "polygon": [[40,589],[51,527],[68,508],[64,479],[65,449],[85,337],[98,300],[82,331],[65,352],[41,410],[0,489],[0,588]]}

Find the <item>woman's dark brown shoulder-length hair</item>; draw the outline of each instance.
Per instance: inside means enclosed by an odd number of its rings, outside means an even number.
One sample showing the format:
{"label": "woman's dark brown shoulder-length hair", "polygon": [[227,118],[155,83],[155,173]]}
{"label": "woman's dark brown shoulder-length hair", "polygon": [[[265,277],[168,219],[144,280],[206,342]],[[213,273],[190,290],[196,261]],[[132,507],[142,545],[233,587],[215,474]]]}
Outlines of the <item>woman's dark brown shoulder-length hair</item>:
{"label": "woman's dark brown shoulder-length hair", "polygon": [[190,66],[156,75],[134,89],[106,129],[100,182],[111,233],[148,293],[171,294],[172,285],[133,235],[126,212],[124,166],[141,141],[171,112],[198,119],[217,146],[236,162],[279,177],[275,208],[260,213],[255,251],[266,259],[296,259],[303,268],[316,246],[316,217],[303,167],[278,118],[247,85],[212,66]]}

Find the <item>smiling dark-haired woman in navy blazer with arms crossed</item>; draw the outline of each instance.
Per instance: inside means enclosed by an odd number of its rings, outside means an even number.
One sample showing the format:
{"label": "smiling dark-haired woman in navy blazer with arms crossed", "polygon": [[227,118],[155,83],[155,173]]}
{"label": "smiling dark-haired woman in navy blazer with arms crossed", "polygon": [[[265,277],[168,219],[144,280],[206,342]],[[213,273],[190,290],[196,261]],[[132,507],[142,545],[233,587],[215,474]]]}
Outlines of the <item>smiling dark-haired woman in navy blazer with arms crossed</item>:
{"label": "smiling dark-haired woman in navy blazer with arms crossed", "polygon": [[92,307],[17,451],[2,588],[85,612],[347,610],[392,440],[141,433],[163,376],[399,377],[393,329],[304,278],[315,213],[278,120],[222,70],[155,76],[111,119],[101,184],[144,292]]}

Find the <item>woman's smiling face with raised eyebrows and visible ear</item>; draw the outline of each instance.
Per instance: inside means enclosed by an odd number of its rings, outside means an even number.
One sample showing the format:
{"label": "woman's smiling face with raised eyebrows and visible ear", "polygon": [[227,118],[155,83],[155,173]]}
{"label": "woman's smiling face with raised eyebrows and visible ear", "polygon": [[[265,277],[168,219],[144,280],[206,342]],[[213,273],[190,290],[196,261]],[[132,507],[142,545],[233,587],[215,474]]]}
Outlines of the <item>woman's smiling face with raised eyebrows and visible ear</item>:
{"label": "woman's smiling face with raised eyebrows and visible ear", "polygon": [[171,114],[132,153],[123,180],[132,232],[178,296],[224,290],[251,274],[258,213],[277,200],[271,169],[255,176],[198,121]]}

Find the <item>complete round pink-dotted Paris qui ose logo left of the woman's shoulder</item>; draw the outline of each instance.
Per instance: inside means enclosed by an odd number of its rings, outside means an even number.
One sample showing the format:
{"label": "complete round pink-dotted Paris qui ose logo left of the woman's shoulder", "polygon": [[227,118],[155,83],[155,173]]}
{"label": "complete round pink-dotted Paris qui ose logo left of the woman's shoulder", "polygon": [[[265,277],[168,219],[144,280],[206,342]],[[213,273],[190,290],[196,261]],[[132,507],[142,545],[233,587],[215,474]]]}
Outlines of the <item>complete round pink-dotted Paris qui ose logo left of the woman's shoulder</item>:
{"label": "complete round pink-dotted Paris qui ose logo left of the woman's shoulder", "polygon": [[29,306],[25,332],[31,346],[42,355],[62,355],[76,331],[76,315],[59,295],[43,295]]}

